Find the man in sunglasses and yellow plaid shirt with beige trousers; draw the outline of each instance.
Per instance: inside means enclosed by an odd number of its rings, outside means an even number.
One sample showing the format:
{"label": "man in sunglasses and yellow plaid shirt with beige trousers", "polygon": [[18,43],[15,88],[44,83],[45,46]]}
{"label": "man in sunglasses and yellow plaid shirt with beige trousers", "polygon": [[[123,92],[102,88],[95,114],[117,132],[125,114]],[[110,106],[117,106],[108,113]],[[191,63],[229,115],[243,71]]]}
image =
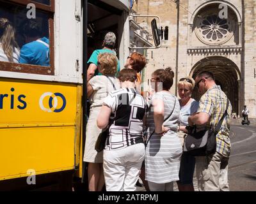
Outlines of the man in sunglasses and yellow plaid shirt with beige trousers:
{"label": "man in sunglasses and yellow plaid shirt with beige trousers", "polygon": [[[214,75],[209,71],[200,72],[195,79],[196,87],[202,97],[195,115],[188,118],[190,126],[216,128],[227,108],[227,96],[216,85]],[[228,106],[228,115],[223,120],[216,135],[216,152],[209,156],[196,157],[196,177],[199,191],[229,191],[228,157],[230,156],[230,119],[232,106]]]}

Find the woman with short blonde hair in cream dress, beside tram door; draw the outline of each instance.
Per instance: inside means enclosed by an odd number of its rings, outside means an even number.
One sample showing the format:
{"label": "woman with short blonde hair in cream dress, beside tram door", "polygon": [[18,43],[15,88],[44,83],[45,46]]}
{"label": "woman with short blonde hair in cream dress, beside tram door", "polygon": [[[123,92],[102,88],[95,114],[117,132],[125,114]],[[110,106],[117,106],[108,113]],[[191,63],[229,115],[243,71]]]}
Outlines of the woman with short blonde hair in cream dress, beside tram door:
{"label": "woman with short blonde hair in cream dress, beside tram door", "polygon": [[119,89],[118,79],[115,77],[117,69],[116,56],[103,53],[98,56],[99,71],[87,83],[87,97],[90,101],[90,115],[86,126],[86,142],[84,147],[84,161],[88,162],[89,191],[101,191],[104,186],[103,152],[95,150],[95,143],[101,132],[96,126],[97,117],[102,107],[102,102],[109,92]]}

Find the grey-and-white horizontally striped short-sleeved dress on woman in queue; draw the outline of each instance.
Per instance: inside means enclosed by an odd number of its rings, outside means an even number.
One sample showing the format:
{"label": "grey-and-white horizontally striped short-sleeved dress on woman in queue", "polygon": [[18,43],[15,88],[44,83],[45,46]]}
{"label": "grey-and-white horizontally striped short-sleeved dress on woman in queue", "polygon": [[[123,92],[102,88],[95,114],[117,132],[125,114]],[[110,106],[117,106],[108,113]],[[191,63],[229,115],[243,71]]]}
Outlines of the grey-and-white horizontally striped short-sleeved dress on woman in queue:
{"label": "grey-and-white horizontally striped short-sleeved dress on woman in queue", "polygon": [[[154,108],[150,106],[147,117],[147,147],[145,156],[145,180],[164,184],[179,180],[182,147],[177,136],[180,105],[178,99],[169,92],[156,92],[152,96],[164,102],[164,127],[170,128],[164,136],[153,133],[155,129]],[[150,105],[151,102],[150,101]],[[173,112],[172,112],[173,111]],[[172,113],[172,115],[170,115]],[[170,116],[170,117],[169,117]],[[168,118],[168,119],[167,119]],[[151,138],[149,138],[151,136]]]}

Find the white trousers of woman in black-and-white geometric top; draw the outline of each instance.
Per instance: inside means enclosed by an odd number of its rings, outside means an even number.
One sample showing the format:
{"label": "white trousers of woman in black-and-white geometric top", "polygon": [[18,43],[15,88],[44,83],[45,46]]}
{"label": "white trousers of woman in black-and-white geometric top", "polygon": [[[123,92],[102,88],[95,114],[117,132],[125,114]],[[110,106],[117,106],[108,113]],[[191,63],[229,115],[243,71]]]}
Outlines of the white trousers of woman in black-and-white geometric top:
{"label": "white trousers of woman in black-and-white geometric top", "polygon": [[103,168],[107,191],[136,191],[145,145],[138,143],[120,150],[104,150]]}

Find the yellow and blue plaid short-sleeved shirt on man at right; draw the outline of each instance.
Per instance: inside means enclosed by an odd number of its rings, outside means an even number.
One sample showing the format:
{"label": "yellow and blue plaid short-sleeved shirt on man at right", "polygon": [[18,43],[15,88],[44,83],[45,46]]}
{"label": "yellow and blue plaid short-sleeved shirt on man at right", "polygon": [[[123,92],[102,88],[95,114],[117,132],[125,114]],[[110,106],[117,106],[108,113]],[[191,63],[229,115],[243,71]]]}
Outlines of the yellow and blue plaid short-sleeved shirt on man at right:
{"label": "yellow and blue plaid short-sleeved shirt on man at right", "polygon": [[[201,97],[199,102],[199,112],[208,113],[210,115],[210,123],[207,128],[214,130],[225,113],[227,107],[227,96],[221,91],[219,85],[214,85]],[[217,147],[216,151],[225,157],[230,156],[231,143],[229,138],[230,132],[230,119],[231,119],[232,106],[229,102],[228,115],[223,120],[220,131],[216,136]]]}

